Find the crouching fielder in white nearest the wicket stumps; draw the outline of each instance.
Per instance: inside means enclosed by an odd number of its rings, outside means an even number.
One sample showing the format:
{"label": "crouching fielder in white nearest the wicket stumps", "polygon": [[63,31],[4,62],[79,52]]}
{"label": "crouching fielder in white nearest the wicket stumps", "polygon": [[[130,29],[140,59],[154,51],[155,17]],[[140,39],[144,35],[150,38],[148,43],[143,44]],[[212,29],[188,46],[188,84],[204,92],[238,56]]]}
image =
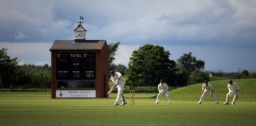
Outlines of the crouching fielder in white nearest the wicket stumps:
{"label": "crouching fielder in white nearest the wicket stumps", "polygon": [[158,102],[160,101],[160,95],[166,95],[166,97],[168,98],[168,102],[171,104],[171,98],[169,95],[169,87],[166,83],[164,83],[163,80],[160,80],[160,83],[158,84],[158,95],[156,97],[156,104],[158,104]]}

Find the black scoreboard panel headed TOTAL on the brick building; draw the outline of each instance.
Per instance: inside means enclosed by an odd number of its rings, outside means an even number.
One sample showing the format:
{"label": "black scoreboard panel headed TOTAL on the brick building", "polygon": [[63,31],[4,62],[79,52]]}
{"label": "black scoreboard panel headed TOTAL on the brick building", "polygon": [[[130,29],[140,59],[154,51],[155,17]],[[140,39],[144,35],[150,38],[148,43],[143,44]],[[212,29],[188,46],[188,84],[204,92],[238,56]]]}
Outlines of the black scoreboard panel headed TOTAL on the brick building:
{"label": "black scoreboard panel headed TOTAL on the brick building", "polygon": [[95,53],[57,53],[57,80],[95,80]]}

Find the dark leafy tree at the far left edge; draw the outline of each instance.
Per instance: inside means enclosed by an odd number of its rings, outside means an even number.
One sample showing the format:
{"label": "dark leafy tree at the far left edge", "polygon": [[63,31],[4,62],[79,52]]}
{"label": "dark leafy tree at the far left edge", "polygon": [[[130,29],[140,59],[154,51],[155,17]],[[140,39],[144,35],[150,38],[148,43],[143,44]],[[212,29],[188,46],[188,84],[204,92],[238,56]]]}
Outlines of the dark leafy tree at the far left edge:
{"label": "dark leafy tree at the far left edge", "polygon": [[17,64],[17,57],[9,57],[6,48],[0,50],[0,75],[4,85],[11,85],[17,82]]}

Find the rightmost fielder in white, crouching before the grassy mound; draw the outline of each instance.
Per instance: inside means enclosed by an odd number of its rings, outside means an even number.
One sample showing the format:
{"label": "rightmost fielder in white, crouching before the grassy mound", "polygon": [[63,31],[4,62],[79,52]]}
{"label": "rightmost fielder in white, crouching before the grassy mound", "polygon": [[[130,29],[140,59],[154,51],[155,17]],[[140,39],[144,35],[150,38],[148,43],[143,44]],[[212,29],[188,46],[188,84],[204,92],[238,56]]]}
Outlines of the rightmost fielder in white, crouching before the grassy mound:
{"label": "rightmost fielder in white, crouching before the grassy mound", "polygon": [[233,101],[232,101],[232,105],[235,105],[235,101],[239,96],[239,84],[233,82],[233,80],[229,80],[228,82],[228,94],[226,96],[226,102],[224,102],[224,105],[228,105],[229,104],[229,98],[232,97],[234,95]]}

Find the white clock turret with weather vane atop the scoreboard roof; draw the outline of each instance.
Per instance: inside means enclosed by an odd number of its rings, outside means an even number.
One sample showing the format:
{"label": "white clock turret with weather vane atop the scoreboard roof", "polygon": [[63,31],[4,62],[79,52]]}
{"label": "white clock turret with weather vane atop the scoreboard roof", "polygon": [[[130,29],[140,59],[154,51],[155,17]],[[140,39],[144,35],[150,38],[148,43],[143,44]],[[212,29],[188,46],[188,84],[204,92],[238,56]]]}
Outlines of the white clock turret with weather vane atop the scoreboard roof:
{"label": "white clock turret with weather vane atop the scoreboard roof", "polygon": [[80,17],[79,21],[77,21],[77,23],[79,23],[77,28],[75,28],[73,30],[74,35],[75,35],[74,40],[75,40],[76,43],[84,43],[85,42],[85,37],[86,37],[85,32],[87,30],[83,27],[83,25],[82,25],[83,21],[82,20],[84,20],[84,17]]}

